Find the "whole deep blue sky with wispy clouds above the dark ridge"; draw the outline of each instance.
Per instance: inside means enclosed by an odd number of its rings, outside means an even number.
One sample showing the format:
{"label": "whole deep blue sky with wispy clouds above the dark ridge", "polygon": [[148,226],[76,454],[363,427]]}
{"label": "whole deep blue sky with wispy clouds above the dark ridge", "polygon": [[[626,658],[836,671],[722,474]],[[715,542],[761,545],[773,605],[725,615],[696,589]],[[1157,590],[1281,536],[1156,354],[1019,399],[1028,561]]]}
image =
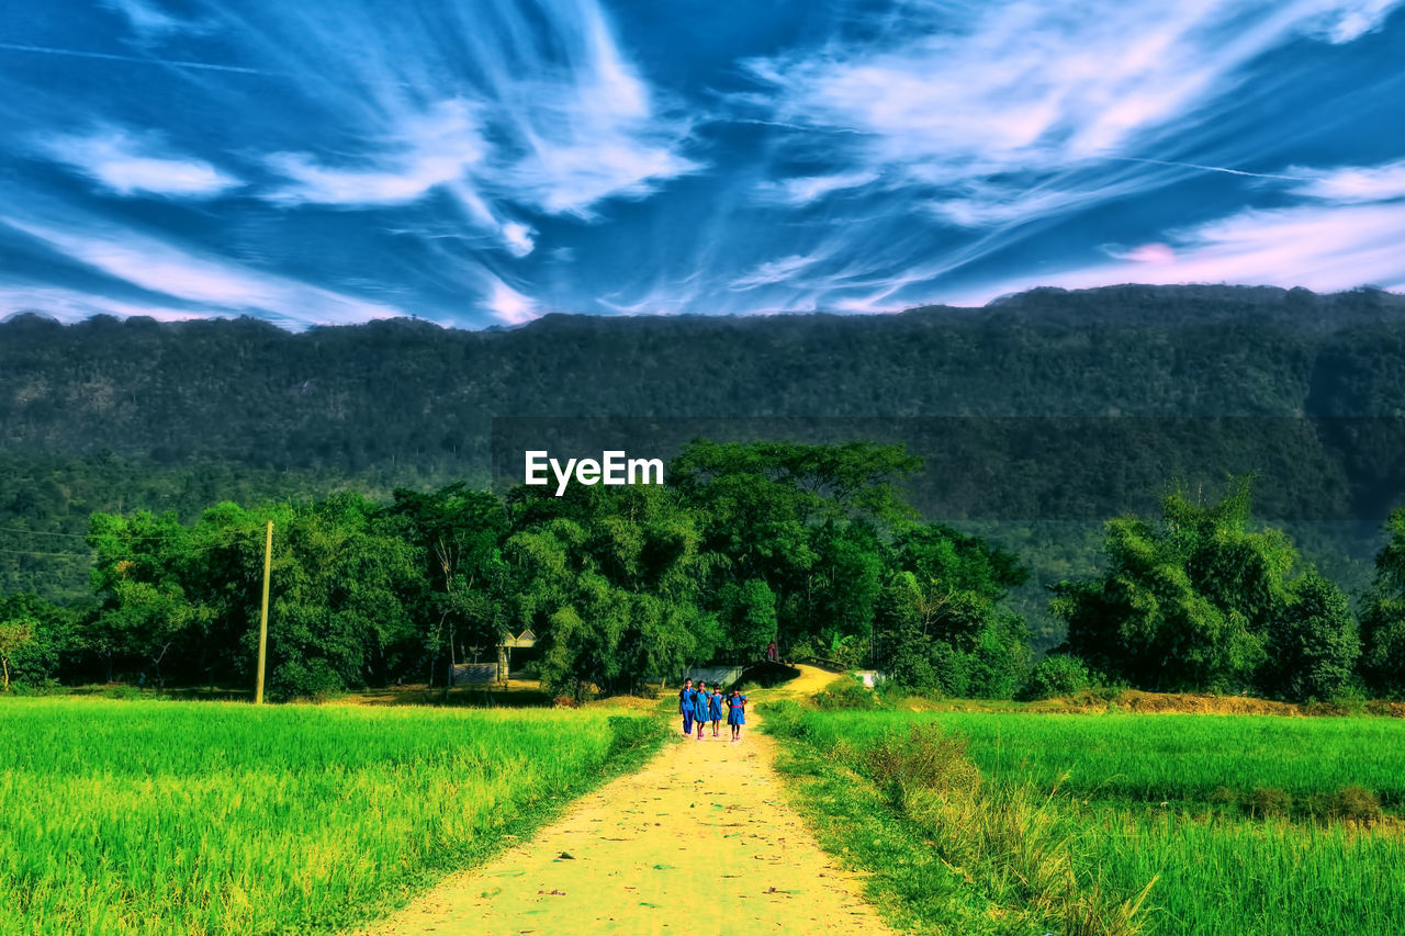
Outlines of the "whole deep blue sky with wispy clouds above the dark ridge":
{"label": "whole deep blue sky with wispy clouds above the dark ridge", "polygon": [[0,316],[1405,291],[1405,0],[0,0]]}

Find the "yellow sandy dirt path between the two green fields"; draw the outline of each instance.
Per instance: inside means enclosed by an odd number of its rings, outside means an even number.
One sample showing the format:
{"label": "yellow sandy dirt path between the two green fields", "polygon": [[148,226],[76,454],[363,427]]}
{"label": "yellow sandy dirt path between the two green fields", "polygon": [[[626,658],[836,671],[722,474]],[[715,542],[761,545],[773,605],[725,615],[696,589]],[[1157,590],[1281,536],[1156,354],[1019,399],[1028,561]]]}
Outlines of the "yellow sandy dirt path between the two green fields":
{"label": "yellow sandy dirt path between the two green fields", "polygon": [[[808,669],[808,668],[806,668]],[[806,672],[787,689],[833,676]],[[378,936],[888,933],[785,804],[773,741],[670,743],[492,864],[450,877]],[[566,857],[569,856],[569,857]]]}

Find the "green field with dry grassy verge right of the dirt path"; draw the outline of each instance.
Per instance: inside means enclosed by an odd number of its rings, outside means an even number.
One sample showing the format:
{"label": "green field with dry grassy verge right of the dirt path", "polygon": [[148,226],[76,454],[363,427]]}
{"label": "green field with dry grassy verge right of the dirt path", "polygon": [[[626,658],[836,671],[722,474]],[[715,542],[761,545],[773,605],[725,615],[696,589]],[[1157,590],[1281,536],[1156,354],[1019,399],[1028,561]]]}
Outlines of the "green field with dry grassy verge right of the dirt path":
{"label": "green field with dry grassy verge right of the dirt path", "polygon": [[1405,721],[770,717],[826,847],[917,932],[1405,932]]}

